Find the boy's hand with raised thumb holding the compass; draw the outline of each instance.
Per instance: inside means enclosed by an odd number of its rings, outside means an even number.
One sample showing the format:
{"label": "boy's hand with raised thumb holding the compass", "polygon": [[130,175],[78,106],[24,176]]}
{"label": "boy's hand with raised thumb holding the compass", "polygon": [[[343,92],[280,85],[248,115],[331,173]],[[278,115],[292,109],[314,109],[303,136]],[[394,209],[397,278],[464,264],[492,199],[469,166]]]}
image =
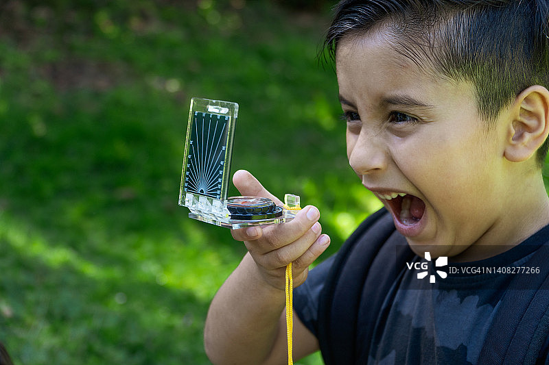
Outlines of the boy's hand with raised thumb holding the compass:
{"label": "boy's hand with raised thumb holding the compass", "polygon": [[[265,197],[276,205],[283,205],[248,171],[237,171],[233,183],[242,195]],[[293,262],[294,286],[299,286],[307,277],[309,265],[329,245],[329,236],[320,234],[319,217],[318,209],[307,205],[288,223],[233,229],[231,232],[235,240],[244,241],[261,277],[270,286],[284,290],[285,266]]]}

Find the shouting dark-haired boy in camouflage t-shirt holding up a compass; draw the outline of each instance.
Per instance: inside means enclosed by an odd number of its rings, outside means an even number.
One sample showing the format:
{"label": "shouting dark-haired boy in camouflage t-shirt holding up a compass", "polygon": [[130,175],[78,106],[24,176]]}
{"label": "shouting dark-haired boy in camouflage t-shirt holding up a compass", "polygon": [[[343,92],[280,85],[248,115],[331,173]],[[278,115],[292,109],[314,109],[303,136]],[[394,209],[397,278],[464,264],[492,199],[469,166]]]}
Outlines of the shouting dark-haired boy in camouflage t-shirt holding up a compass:
{"label": "shouting dark-haired boy in camouflage t-shirt holding up a compass", "polygon": [[[507,292],[519,290],[511,308],[541,292],[533,301],[539,308],[548,303],[545,291],[522,287],[501,270],[435,284],[410,270],[424,256],[449,257],[463,272],[539,262],[546,268],[539,257],[549,244],[541,177],[548,19],[547,1],[338,4],[325,45],[336,61],[349,164],[385,207],[307,281],[309,264],[329,244],[316,207],[290,223],[233,231],[249,252],[209,310],[205,346],[213,363],[285,363],[290,262],[298,286],[296,358],[320,348],[334,364],[548,361],[547,313],[537,320],[546,327],[526,329],[535,333],[531,343],[513,338],[515,330],[498,333],[501,317],[518,312],[506,309]],[[239,171],[233,181],[244,195],[280,203],[249,173]],[[409,262],[382,255],[399,242],[411,249]],[[524,347],[528,358],[519,355]]]}

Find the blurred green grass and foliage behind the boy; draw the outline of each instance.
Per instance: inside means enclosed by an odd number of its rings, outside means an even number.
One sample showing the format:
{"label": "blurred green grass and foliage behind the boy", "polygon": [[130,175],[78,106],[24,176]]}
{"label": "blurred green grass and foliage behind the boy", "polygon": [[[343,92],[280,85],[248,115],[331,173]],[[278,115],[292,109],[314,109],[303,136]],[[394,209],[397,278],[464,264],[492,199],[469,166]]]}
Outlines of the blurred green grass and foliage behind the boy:
{"label": "blurred green grass and foliage behind the boy", "polygon": [[353,184],[316,58],[329,5],[0,6],[0,341],[16,363],[209,363],[207,307],[244,248],[177,205],[191,97],[240,103],[233,171],[317,205],[331,252],[379,206]]}

